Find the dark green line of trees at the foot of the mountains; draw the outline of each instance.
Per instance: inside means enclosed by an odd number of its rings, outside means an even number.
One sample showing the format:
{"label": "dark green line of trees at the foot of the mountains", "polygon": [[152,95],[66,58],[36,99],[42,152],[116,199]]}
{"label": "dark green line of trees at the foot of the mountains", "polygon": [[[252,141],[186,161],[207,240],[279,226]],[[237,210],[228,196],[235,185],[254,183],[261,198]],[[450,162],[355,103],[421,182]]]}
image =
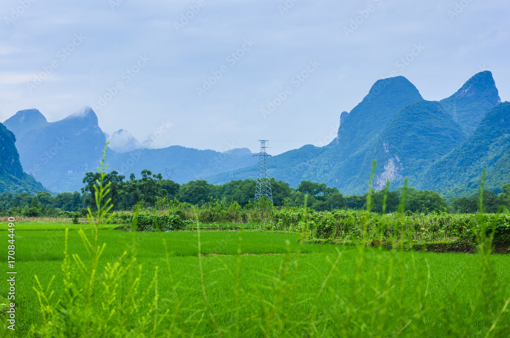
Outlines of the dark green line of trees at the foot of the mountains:
{"label": "dark green line of trees at the foot of the mountains", "polygon": [[[63,192],[52,195],[48,192],[38,192],[31,195],[28,192],[0,194],[1,215],[25,216],[62,216],[69,212],[85,213],[88,206],[94,205],[94,184],[99,178],[98,173],[87,173],[83,178],[84,187],[81,192]],[[137,179],[131,174],[129,179],[118,172],[112,171],[106,177],[110,183],[109,197],[112,199],[114,210],[133,210],[137,205],[144,208],[156,206],[159,199],[178,200],[192,205],[203,205],[211,201],[236,202],[241,207],[247,206],[254,200],[257,182],[246,179],[231,181],[222,185],[210,184],[205,180],[190,181],[179,184],[172,180],[163,179],[161,174],[152,174],[149,170],[141,172]],[[336,187],[328,187],[325,183],[302,181],[297,188],[288,183],[270,179],[273,204],[276,207],[307,207],[316,210],[366,209],[368,193],[363,195],[344,196]],[[498,209],[510,206],[510,184],[505,184],[501,193],[496,194],[485,190],[483,205],[487,212],[497,212]],[[372,194],[372,211],[382,213],[398,210],[403,188],[392,191],[376,191]],[[405,210],[413,213],[450,212],[473,213],[478,210],[479,193],[470,196],[450,199],[447,203],[437,192],[407,188],[405,191]],[[384,208],[384,205],[386,207]],[[383,210],[384,209],[384,210]]]}

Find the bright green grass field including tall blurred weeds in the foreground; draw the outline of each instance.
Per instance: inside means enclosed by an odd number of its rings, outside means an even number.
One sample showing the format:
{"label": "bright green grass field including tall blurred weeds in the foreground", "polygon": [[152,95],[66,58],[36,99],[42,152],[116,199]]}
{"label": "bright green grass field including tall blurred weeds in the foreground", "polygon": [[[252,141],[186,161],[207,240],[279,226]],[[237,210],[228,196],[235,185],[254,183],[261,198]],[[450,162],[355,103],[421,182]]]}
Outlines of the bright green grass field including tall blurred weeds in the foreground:
{"label": "bright green grass field including tall blurred weeds in the foreground", "polygon": [[[481,212],[478,254],[466,256],[298,244],[296,234],[99,232],[112,208],[106,149],[88,235],[66,230],[62,257],[61,231],[19,230],[17,276],[36,275],[42,314],[18,278],[23,336],[508,335],[509,259],[490,255]],[[374,173],[375,161],[369,182]]]}

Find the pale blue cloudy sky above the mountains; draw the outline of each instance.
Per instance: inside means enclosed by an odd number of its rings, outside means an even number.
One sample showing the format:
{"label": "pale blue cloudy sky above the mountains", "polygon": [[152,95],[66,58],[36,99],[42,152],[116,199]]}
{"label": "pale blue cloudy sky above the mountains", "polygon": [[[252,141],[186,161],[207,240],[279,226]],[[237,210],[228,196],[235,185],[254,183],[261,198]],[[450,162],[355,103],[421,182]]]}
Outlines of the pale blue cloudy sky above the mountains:
{"label": "pale blue cloudy sky above the mountains", "polygon": [[155,148],[276,155],[329,143],[390,75],[441,100],[490,70],[510,100],[507,0],[2,3],[1,122],[90,106],[110,134],[165,130]]}

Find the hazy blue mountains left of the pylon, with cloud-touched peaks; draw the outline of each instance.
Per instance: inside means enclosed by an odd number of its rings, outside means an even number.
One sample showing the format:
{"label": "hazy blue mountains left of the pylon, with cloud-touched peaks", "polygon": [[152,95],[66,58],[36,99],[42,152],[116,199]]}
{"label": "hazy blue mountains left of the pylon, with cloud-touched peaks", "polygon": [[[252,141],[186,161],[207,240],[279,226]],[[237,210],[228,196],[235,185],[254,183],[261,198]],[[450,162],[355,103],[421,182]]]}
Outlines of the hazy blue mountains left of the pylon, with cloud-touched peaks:
{"label": "hazy blue mountains left of the pylon, with cloud-touched peaks", "polygon": [[[89,107],[56,122],[48,122],[37,109],[21,110],[5,125],[16,135],[25,171],[55,192],[80,191],[85,173],[96,171],[106,143],[106,135]],[[132,149],[140,144],[129,132],[121,129],[110,137],[114,142],[107,152],[108,170],[126,178],[148,169],[186,183],[257,161],[248,149],[224,153],[180,146]]]}

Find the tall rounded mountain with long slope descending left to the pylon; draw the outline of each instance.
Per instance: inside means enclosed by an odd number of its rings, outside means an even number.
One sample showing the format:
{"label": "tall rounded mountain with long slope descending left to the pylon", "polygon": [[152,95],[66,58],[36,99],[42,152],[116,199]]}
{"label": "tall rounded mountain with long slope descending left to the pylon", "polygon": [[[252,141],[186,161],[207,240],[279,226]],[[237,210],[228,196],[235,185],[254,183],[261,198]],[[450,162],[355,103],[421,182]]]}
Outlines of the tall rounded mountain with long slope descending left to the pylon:
{"label": "tall rounded mountain with long slope descending left to the pylon", "polygon": [[[363,101],[340,116],[337,138],[325,147],[307,145],[269,159],[271,176],[297,187],[302,180],[325,182],[341,191],[363,191],[357,177],[372,145],[397,111],[423,100],[405,77],[378,80]],[[235,171],[237,179],[256,178],[257,167]],[[213,183],[230,180],[226,174],[210,178]],[[367,178],[368,181],[368,178]]]}

